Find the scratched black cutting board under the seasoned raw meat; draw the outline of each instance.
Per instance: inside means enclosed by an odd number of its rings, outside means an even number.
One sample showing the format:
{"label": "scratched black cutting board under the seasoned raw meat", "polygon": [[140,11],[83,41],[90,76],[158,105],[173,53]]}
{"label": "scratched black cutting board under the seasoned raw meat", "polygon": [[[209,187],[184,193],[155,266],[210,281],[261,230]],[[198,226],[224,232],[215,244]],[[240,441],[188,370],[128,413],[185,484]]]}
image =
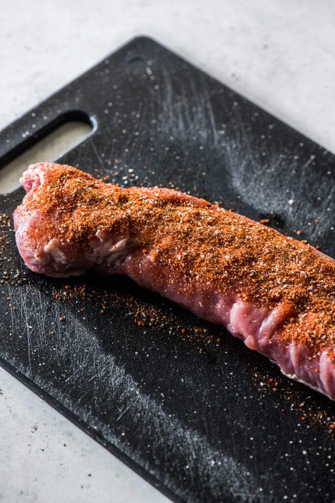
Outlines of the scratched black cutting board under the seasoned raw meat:
{"label": "scratched black cutting board under the seasoned raw meat", "polygon": [[[94,130],[61,162],[221,201],[335,255],[334,155],[156,42],[3,130],[1,165],[78,118]],[[335,501],[333,402],[127,278],[28,271],[11,220],[23,195],[0,201],[6,369],[175,501]]]}

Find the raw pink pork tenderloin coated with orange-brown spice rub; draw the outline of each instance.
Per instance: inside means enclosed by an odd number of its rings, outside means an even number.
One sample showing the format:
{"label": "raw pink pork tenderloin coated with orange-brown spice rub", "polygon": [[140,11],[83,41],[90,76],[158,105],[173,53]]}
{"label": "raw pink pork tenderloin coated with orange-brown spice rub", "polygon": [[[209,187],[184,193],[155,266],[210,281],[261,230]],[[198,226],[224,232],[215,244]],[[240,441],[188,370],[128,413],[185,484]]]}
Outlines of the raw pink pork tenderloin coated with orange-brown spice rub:
{"label": "raw pink pork tenderloin coated with orange-brown spice rub", "polygon": [[21,183],[14,222],[30,269],[127,274],[335,399],[333,259],[174,190],[125,189],[52,163],[29,166]]}

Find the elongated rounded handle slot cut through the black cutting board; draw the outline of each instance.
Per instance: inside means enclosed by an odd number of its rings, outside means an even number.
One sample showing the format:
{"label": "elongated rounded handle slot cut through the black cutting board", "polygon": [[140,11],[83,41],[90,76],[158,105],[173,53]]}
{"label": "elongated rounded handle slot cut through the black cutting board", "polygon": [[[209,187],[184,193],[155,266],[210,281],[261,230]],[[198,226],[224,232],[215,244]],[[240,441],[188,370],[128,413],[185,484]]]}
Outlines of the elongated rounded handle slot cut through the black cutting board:
{"label": "elongated rounded handle slot cut through the black cutting board", "polygon": [[[10,162],[0,169],[0,194],[8,194],[20,186],[19,178],[29,164],[58,159],[84,141],[93,129],[93,122],[82,112],[64,114],[52,124],[39,129],[30,138],[28,148],[23,150],[22,145],[18,145],[9,153]],[[15,156],[18,150],[20,155]]]}

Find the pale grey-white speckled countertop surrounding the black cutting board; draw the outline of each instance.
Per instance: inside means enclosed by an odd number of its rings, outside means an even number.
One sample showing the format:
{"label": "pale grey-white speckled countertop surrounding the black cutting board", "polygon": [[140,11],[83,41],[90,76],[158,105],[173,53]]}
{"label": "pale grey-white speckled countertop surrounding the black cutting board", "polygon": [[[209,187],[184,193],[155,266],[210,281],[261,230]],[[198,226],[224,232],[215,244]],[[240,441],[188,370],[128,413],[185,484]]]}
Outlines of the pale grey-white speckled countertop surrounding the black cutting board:
{"label": "pale grey-white speckled countertop surrounding the black cutting board", "polygon": [[[334,25],[331,0],[6,3],[0,128],[145,34],[335,152]],[[0,501],[168,501],[5,370],[0,445]]]}

